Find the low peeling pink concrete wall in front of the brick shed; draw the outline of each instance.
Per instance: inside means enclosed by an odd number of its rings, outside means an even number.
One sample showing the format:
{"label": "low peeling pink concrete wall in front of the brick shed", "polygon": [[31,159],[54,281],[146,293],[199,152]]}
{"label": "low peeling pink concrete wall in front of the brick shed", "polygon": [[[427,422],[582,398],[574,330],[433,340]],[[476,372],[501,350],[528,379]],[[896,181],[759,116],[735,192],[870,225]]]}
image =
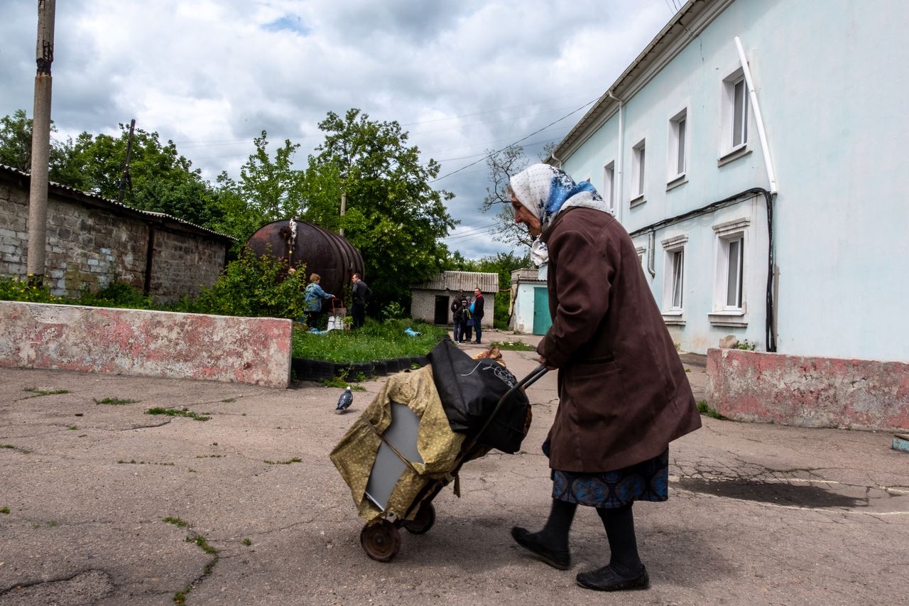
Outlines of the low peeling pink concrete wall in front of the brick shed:
{"label": "low peeling pink concrete wall in front of the brick shed", "polygon": [[286,388],[291,321],[0,301],[0,367]]}

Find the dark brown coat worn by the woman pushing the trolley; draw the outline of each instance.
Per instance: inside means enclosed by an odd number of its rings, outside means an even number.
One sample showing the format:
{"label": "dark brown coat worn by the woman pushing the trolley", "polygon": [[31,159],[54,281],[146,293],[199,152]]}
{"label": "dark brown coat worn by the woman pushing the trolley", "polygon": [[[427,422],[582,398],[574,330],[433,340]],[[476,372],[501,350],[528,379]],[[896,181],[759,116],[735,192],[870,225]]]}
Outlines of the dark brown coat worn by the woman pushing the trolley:
{"label": "dark brown coat worn by the woman pushing the trolley", "polygon": [[611,215],[567,208],[547,227],[549,312],[537,351],[559,369],[554,470],[617,470],[701,427],[691,386],[631,237]]}

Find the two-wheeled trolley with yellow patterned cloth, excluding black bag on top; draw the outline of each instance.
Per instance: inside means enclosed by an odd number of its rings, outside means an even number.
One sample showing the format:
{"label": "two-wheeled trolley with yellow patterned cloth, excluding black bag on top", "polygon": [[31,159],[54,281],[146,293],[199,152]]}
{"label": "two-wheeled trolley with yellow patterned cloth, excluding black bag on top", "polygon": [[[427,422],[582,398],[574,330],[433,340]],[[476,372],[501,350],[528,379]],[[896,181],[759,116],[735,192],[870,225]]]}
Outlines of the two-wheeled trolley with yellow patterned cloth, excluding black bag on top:
{"label": "two-wheeled trolley with yellow patterned cloth, excluding black bag on top", "polygon": [[[483,368],[499,372],[488,363]],[[541,365],[524,379],[512,381],[469,437],[451,429],[453,424],[445,417],[435,389],[432,367],[388,380],[331,455],[351,488],[360,516],[367,520],[360,532],[366,555],[375,561],[391,561],[401,549],[400,528],[423,534],[433,527],[435,495],[452,481],[458,493],[457,474],[462,465],[491,449],[482,441],[485,429],[515,392],[545,373]],[[526,401],[523,394],[521,398]],[[529,406],[526,409],[527,420],[518,439],[529,426]]]}

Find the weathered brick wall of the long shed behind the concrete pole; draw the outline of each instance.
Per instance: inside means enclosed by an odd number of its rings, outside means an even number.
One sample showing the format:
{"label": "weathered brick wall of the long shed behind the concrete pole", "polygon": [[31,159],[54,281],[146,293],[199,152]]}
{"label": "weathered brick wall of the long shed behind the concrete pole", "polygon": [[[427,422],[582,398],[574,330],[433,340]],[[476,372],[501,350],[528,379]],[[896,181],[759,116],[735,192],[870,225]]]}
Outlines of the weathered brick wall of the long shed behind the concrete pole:
{"label": "weathered brick wall of the long shed behind the concrete pole", "polygon": [[[0,275],[25,277],[28,177],[0,170]],[[230,240],[209,230],[110,200],[52,185],[47,197],[47,284],[77,297],[112,281],[145,289],[149,239],[154,238],[149,292],[167,302],[215,283]]]}

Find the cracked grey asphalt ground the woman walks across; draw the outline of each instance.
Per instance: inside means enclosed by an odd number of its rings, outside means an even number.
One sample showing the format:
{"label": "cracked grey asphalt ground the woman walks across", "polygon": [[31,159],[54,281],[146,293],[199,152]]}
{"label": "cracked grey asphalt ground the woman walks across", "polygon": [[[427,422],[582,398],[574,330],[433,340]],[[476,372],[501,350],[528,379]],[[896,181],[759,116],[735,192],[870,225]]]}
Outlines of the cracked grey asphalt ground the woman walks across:
{"label": "cracked grey asphalt ground the woman walks across", "polygon": [[[535,366],[504,359],[518,376]],[[703,359],[683,359],[703,399]],[[634,508],[650,591],[575,586],[608,560],[594,510],[578,510],[572,570],[535,561],[509,530],[549,510],[554,373],[528,391],[522,451],[466,464],[432,530],[369,560],[327,456],[381,382],[363,385],[335,415],[340,389],[315,383],[0,369],[0,604],[909,603],[909,455],[886,432],[704,418],[670,447],[670,499]]]}

